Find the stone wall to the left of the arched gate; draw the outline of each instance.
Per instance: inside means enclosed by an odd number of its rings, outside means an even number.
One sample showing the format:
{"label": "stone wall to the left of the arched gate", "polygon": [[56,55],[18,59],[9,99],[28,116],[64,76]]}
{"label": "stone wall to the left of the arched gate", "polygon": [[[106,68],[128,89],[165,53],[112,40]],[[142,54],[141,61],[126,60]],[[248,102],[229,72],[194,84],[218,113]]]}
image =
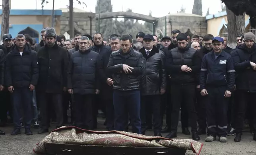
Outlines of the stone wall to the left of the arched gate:
{"label": "stone wall to the left of the arched gate", "polygon": [[[93,34],[95,33],[95,13],[74,12],[74,28],[75,34]],[[92,17],[91,21],[90,18]],[[91,23],[91,26],[90,26]],[[69,12],[63,12],[60,17],[60,34],[69,32]]]}

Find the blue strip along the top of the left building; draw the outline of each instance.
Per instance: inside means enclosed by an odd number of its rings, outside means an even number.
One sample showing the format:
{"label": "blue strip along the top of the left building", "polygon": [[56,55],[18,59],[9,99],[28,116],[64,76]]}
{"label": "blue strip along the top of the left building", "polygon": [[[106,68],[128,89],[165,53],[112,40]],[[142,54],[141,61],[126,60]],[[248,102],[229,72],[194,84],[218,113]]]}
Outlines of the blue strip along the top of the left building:
{"label": "blue strip along the top of the left building", "polygon": [[[0,9],[2,15],[2,9]],[[52,10],[44,9],[11,9],[10,15],[52,15]],[[54,15],[62,15],[61,10],[54,10]]]}

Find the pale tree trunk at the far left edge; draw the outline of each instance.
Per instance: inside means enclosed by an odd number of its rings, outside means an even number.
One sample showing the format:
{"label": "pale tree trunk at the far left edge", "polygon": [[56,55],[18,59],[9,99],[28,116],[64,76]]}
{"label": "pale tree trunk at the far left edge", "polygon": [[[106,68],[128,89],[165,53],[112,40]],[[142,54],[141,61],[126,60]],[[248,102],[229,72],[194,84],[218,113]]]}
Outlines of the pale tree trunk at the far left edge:
{"label": "pale tree trunk at the far left edge", "polygon": [[1,40],[4,34],[9,33],[9,16],[10,3],[9,0],[2,0],[2,26],[1,26]]}

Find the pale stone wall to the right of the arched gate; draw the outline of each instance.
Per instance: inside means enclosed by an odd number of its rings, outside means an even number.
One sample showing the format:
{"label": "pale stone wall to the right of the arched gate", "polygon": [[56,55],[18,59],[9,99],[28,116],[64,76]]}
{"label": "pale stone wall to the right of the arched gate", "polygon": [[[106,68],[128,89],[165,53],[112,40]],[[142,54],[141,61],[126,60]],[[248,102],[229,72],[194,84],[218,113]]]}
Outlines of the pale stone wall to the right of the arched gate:
{"label": "pale stone wall to the right of the arched gate", "polygon": [[[156,30],[159,29],[163,33],[165,33],[165,17],[161,17],[157,20]],[[171,21],[171,24],[169,23]],[[204,36],[207,34],[207,23],[206,17],[188,14],[186,15],[168,15],[166,18],[166,32],[167,36],[171,36],[171,29],[178,29],[182,33],[185,33],[188,29],[192,34],[197,34],[200,36]]]}

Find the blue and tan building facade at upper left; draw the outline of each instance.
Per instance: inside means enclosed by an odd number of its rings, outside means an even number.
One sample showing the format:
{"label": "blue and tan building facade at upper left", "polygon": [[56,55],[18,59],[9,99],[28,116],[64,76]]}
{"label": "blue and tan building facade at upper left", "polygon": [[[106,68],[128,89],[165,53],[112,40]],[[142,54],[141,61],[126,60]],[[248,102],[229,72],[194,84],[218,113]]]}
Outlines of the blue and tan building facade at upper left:
{"label": "blue and tan building facade at upper left", "polygon": [[[52,10],[20,10],[11,9],[9,18],[9,33],[15,37],[17,34],[29,34],[32,38],[41,41],[40,32],[42,28],[51,27]],[[2,20],[2,9],[0,10],[0,20]],[[60,34],[60,16],[61,10],[54,10],[54,28],[56,34]],[[1,28],[1,25],[0,25]],[[2,38],[1,38],[2,40]]]}

